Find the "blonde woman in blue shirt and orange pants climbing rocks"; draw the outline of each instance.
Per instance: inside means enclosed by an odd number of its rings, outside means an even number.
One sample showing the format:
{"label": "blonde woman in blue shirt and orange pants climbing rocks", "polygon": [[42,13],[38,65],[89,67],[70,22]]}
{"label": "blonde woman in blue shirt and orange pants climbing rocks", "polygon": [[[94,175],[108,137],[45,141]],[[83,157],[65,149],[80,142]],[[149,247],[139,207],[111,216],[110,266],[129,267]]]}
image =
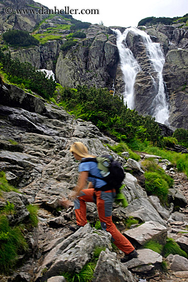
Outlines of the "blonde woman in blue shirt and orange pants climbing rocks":
{"label": "blonde woman in blue shirt and orange pants climbing rocks", "polygon": [[[70,152],[72,152],[76,160],[95,158],[95,156],[89,154],[87,147],[81,142],[73,143]],[[121,263],[137,257],[138,253],[133,245],[117,230],[112,222],[112,205],[116,195],[115,189],[111,187],[110,190],[103,191],[102,187],[107,186],[107,183],[102,179],[89,176],[90,173],[92,176],[102,178],[96,162],[90,162],[88,159],[87,162],[79,164],[78,171],[78,183],[74,188],[74,195],[71,195],[74,197],[76,225],[70,226],[70,230],[75,232],[87,224],[86,202],[96,203],[102,230],[109,232],[112,235],[113,243],[124,252]],[[88,181],[88,189],[85,189]]]}

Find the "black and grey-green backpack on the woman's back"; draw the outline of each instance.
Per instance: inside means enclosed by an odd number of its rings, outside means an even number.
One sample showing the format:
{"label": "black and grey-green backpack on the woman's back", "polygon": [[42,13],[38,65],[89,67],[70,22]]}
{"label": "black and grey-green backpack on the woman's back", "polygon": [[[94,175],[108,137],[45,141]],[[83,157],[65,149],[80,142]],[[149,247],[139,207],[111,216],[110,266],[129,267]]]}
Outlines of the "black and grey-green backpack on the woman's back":
{"label": "black and grey-green backpack on the woman's back", "polygon": [[118,194],[119,188],[121,187],[121,183],[124,179],[124,170],[122,169],[121,164],[117,160],[114,160],[111,155],[102,155],[96,158],[89,157],[81,160],[81,163],[86,162],[97,163],[97,167],[103,177],[97,177],[90,173],[89,176],[102,179],[107,182],[107,185],[101,187],[101,190],[107,191],[114,188],[116,190],[116,194]]}

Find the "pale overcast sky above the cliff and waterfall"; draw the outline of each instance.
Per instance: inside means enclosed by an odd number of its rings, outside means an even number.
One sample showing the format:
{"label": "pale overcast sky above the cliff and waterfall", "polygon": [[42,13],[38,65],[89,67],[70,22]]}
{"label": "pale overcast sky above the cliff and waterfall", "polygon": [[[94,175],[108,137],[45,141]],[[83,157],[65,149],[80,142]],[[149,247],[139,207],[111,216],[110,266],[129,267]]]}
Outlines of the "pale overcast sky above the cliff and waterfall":
{"label": "pale overcast sky above the cliff and waterfall", "polygon": [[72,14],[82,22],[99,24],[101,21],[107,27],[137,27],[138,22],[145,17],[183,16],[188,13],[188,0],[36,0],[36,2],[47,6],[49,9],[98,9],[99,14]]}

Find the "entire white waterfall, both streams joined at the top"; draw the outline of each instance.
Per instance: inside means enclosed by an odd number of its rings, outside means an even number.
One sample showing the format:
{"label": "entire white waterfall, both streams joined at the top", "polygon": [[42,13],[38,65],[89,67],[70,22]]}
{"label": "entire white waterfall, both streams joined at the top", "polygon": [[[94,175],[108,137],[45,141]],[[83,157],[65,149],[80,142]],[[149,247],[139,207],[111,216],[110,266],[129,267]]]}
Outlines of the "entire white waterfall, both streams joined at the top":
{"label": "entire white waterfall, both streams joined at the top", "polygon": [[[140,67],[134,58],[130,49],[122,44],[122,41],[126,41],[126,37],[129,31],[138,34],[142,37],[142,42],[147,48],[148,56],[153,64],[153,67],[158,73],[158,93],[152,102],[153,113],[156,122],[168,125],[169,119],[169,107],[166,101],[166,95],[164,91],[164,82],[162,77],[162,69],[164,65],[164,54],[161,50],[159,43],[153,43],[150,36],[142,30],[136,28],[127,28],[123,34],[119,30],[114,30],[117,33],[117,47],[119,50],[121,70],[123,72],[124,82],[126,84],[126,91],[124,93],[124,102],[130,109],[134,108],[134,83],[136,74],[140,70]],[[124,58],[127,57],[127,58]]]}

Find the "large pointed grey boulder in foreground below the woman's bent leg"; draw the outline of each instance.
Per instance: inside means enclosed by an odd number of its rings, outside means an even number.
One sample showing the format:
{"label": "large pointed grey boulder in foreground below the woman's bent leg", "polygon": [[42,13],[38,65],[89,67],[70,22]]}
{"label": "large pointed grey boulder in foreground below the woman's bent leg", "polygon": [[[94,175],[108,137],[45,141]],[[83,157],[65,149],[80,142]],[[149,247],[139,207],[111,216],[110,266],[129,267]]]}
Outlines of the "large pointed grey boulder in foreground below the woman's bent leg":
{"label": "large pointed grey boulder in foreground below the woman's bent leg", "polygon": [[[47,254],[38,269],[36,281],[45,281],[59,271],[79,272],[85,264],[89,263],[95,247],[103,246],[112,249],[110,238],[110,233],[96,231],[89,224],[78,229]],[[47,269],[45,273],[43,273],[44,269]]]}

